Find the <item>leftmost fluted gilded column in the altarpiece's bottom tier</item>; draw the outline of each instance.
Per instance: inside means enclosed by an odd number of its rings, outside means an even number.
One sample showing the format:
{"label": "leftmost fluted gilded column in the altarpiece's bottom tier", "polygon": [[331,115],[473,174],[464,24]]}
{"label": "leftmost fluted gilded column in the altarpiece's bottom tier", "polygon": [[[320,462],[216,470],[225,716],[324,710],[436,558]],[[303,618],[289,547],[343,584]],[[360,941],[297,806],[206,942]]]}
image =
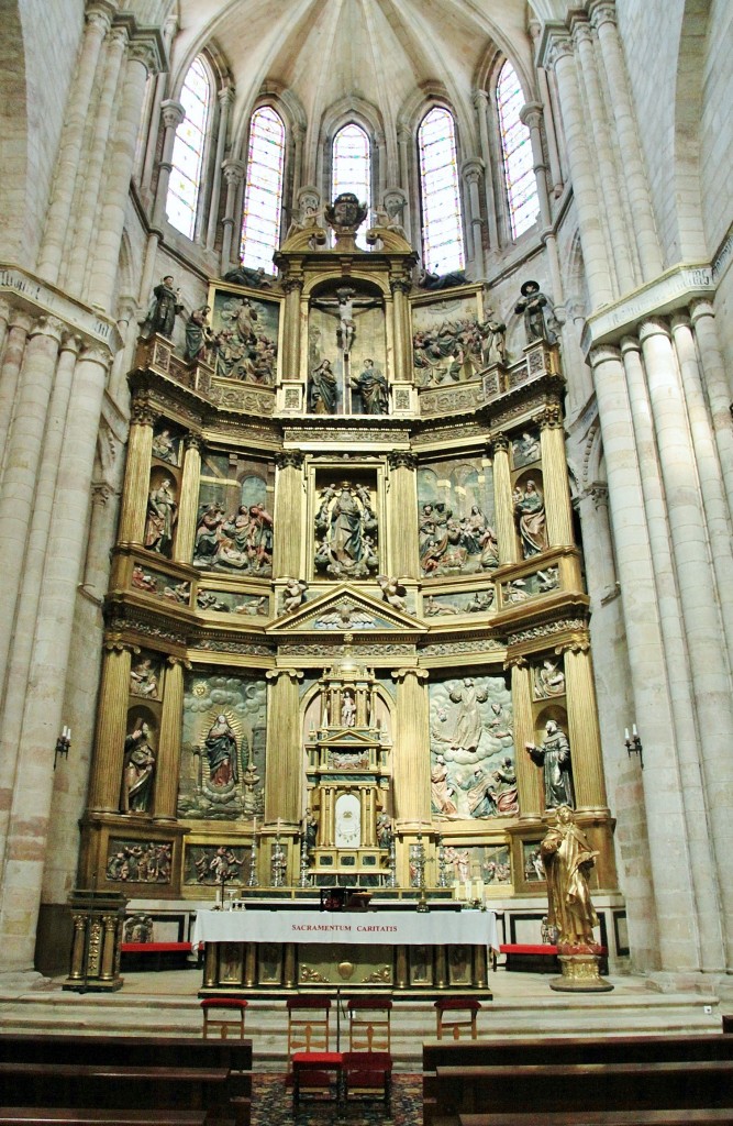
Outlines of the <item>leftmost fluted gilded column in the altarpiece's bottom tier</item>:
{"label": "leftmost fluted gilded column in the altarpiece's bottom tier", "polygon": [[97,735],[89,781],[89,812],[117,813],[125,761],[132,654],[140,650],[109,634],[101,663]]}

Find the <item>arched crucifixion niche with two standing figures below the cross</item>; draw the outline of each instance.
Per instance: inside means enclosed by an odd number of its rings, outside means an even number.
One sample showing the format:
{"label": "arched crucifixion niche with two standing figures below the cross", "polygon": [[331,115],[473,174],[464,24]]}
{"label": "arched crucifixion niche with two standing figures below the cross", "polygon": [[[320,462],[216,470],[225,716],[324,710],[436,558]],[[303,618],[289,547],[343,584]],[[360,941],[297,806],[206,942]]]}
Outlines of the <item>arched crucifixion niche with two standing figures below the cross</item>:
{"label": "arched crucifixion niche with two standing figures below the cross", "polygon": [[384,301],[378,288],[346,278],[316,288],[309,311],[311,414],[387,414]]}

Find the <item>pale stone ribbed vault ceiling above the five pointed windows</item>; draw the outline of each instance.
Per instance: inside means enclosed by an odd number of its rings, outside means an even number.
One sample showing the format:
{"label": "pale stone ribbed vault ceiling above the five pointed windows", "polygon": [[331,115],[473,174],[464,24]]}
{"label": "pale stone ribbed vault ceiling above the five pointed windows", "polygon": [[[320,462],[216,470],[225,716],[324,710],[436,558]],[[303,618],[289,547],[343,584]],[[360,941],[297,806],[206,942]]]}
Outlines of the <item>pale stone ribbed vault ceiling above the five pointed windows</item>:
{"label": "pale stone ribbed vault ceiling above the five pointed windows", "polygon": [[529,68],[526,0],[179,0],[179,10],[175,75],[214,44],[236,87],[240,129],[266,81],[295,95],[304,124],[360,99],[394,135],[436,82],[473,120],[472,86],[495,47]]}

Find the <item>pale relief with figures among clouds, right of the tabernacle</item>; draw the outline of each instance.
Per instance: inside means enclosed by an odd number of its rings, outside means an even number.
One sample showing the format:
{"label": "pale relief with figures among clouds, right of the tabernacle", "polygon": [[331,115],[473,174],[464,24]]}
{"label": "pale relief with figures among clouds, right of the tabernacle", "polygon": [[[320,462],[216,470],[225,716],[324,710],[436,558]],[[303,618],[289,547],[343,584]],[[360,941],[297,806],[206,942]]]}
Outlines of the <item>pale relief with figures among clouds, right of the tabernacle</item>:
{"label": "pale relief with figures among clouds, right of the tabernacle", "polygon": [[430,794],[437,819],[519,813],[512,703],[503,677],[430,685]]}

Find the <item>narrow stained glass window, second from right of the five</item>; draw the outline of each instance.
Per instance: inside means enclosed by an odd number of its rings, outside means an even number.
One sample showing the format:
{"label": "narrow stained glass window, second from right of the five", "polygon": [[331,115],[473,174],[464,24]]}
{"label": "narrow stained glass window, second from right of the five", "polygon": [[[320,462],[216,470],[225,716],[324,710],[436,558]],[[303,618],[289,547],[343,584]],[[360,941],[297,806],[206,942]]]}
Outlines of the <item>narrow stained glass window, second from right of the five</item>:
{"label": "narrow stained glass window, second from right of the five", "polygon": [[436,106],[418,129],[420,199],[422,204],[422,263],[433,274],[462,270],[463,222],[456,131],[447,109]]}

